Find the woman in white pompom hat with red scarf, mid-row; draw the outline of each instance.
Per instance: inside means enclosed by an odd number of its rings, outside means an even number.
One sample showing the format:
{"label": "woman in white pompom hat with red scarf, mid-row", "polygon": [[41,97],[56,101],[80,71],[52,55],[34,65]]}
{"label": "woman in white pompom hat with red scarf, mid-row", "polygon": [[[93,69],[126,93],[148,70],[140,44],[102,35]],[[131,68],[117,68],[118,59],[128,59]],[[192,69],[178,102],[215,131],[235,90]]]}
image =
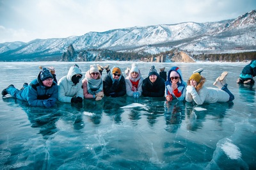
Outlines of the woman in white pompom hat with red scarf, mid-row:
{"label": "woman in white pompom hat with red scarf, mid-row", "polygon": [[140,69],[133,63],[128,76],[125,78],[126,94],[130,97],[139,98],[142,93],[142,81]]}

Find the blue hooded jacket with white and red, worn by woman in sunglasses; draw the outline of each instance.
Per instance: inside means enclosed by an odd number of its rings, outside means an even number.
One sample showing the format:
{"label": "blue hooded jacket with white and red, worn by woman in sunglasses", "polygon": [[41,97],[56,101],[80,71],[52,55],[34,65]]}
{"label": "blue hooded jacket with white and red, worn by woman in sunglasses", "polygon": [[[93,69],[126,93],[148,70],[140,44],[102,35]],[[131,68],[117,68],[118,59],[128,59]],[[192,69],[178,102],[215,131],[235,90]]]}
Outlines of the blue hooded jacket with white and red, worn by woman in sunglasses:
{"label": "blue hooded jacket with white and red, worn by woman in sunglasses", "polygon": [[[179,76],[180,76],[180,81],[177,83],[178,88],[175,90],[172,89],[172,81],[170,79],[170,73],[172,71],[179,73]],[[173,66],[169,70],[168,79],[165,82],[165,86],[166,86],[166,95],[172,95],[173,97],[176,97],[178,100],[184,100],[185,95],[186,95],[187,83],[183,81],[182,73],[181,73],[179,67]]]}

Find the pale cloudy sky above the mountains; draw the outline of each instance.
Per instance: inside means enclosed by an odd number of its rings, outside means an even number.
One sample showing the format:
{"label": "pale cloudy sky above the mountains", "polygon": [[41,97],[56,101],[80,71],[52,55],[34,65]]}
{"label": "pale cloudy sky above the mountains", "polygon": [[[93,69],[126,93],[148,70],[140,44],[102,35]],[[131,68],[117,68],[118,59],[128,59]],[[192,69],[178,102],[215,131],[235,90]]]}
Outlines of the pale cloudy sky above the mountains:
{"label": "pale cloudy sky above the mountains", "polygon": [[0,43],[214,22],[236,19],[251,10],[256,10],[255,0],[0,0]]}

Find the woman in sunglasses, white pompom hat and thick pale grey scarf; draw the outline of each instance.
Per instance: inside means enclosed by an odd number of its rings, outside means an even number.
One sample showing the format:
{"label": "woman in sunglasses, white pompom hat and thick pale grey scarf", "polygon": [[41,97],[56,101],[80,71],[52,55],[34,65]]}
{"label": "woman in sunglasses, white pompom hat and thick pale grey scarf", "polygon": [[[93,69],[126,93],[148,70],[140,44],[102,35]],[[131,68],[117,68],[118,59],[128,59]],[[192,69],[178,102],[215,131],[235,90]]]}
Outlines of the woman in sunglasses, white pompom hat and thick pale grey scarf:
{"label": "woman in sunglasses, white pompom hat and thick pale grey scarf", "polygon": [[101,100],[104,97],[103,81],[96,65],[90,65],[90,70],[85,73],[83,79],[84,98]]}

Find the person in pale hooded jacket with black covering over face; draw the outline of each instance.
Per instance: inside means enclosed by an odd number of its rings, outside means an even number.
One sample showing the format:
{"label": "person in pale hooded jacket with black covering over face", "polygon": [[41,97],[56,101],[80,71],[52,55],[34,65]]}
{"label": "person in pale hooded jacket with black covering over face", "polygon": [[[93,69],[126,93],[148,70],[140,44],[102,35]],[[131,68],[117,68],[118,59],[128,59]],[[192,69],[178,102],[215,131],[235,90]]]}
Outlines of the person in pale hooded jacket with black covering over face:
{"label": "person in pale hooded jacket with black covering over face", "polygon": [[83,89],[82,79],[83,74],[78,65],[71,66],[68,74],[58,82],[58,100],[66,103],[82,103]]}

